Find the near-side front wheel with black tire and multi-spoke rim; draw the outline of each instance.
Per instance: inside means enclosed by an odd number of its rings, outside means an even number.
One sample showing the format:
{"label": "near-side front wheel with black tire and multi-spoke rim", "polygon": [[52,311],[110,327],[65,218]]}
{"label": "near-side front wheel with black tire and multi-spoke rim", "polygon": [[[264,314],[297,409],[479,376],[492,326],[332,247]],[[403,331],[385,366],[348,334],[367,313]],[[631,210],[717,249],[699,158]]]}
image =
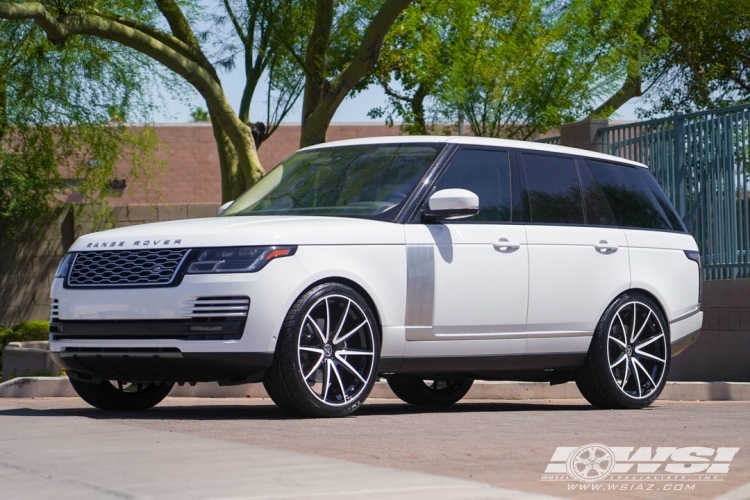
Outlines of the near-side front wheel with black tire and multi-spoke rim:
{"label": "near-side front wheel with black tire and multi-spoke rim", "polygon": [[288,413],[343,417],[370,394],[379,355],[370,306],[351,287],[325,283],[304,293],[287,313],[263,385]]}

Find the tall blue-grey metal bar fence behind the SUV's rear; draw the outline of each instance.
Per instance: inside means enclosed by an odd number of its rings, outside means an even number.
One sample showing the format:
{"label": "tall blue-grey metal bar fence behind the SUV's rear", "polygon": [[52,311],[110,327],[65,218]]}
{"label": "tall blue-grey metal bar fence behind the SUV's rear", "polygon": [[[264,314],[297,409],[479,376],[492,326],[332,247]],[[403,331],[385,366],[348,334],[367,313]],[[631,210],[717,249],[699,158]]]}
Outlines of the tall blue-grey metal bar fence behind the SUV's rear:
{"label": "tall blue-grey metal bar fence behind the SUV's rear", "polygon": [[750,278],[750,105],[599,130],[649,165],[701,250],[704,279]]}

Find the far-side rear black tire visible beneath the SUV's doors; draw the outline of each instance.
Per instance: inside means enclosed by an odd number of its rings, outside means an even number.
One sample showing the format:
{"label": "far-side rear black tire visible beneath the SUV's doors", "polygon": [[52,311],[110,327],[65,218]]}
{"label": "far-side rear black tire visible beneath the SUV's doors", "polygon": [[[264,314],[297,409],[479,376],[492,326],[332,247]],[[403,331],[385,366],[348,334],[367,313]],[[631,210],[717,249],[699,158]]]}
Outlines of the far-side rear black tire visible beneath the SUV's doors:
{"label": "far-side rear black tire visible beneath the SUV's doors", "polygon": [[471,389],[472,379],[435,379],[428,385],[422,379],[389,378],[388,385],[404,403],[415,406],[450,406]]}

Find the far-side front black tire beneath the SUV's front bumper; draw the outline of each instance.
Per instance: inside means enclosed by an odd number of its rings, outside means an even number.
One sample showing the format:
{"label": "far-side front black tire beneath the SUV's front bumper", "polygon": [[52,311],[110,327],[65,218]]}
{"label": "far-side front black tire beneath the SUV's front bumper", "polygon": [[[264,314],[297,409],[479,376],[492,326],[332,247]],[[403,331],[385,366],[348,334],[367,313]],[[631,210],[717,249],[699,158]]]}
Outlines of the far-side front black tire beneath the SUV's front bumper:
{"label": "far-side front black tire beneath the SUV's front bumper", "polygon": [[114,385],[109,380],[90,383],[75,377],[70,377],[70,383],[88,404],[110,411],[148,410],[167,397],[174,385],[171,382],[115,382]]}

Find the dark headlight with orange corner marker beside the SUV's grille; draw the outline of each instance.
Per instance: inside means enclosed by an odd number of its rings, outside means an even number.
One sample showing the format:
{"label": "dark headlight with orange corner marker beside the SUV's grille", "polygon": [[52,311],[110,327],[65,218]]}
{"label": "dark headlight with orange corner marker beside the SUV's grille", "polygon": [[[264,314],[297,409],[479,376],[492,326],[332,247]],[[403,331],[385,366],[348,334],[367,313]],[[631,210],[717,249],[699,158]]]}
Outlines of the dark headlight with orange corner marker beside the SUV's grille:
{"label": "dark headlight with orange corner marker beside the SUV's grille", "polygon": [[294,255],[296,246],[227,247],[197,249],[187,274],[254,273],[279,257]]}

